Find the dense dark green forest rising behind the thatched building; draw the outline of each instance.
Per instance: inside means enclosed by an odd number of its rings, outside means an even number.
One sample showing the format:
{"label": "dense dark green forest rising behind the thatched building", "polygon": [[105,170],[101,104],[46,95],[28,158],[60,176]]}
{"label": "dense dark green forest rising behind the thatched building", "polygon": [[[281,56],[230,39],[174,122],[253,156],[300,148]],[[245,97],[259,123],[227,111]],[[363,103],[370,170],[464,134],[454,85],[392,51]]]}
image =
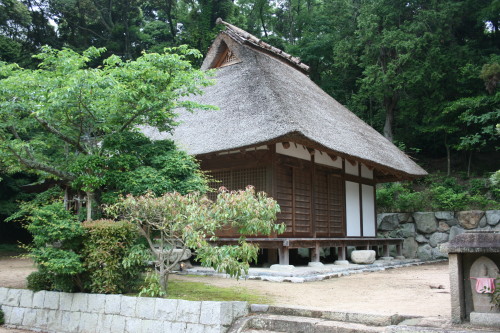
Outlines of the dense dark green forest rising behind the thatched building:
{"label": "dense dark green forest rising behind the thatched building", "polygon": [[[0,0],[0,60],[35,68],[43,45],[135,59],[207,51],[237,25],[311,66],[327,93],[424,168],[499,169],[500,0]],[[2,173],[0,219],[19,186]]]}

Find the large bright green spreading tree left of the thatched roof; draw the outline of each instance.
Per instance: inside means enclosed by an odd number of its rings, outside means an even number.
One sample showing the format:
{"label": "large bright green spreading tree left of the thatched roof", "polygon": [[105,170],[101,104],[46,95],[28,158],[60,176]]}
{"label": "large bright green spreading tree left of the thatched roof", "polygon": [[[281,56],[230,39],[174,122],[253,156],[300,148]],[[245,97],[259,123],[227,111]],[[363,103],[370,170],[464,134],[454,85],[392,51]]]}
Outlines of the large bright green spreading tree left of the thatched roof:
{"label": "large bright green spreading tree left of the thatched roof", "polygon": [[[139,180],[136,190],[151,179],[176,189],[175,169],[163,162],[184,163],[184,178],[192,182],[191,190],[199,190],[204,178],[196,163],[176,153],[171,143],[153,143],[141,134],[144,126],[171,131],[177,108],[211,108],[183,99],[211,83],[186,59],[199,52],[187,47],[168,51],[175,53],[144,53],[135,61],[111,56],[90,67],[104,49],[80,55],[46,47],[37,56],[37,70],[0,64],[1,161],[10,172],[35,172],[85,192],[87,219],[100,193],[120,184],[118,190],[131,190],[123,180],[133,180],[134,174],[149,177]],[[127,145],[129,139],[138,145]],[[162,147],[170,149],[155,157]],[[142,164],[143,157],[149,165]],[[189,186],[179,190],[187,192]]]}

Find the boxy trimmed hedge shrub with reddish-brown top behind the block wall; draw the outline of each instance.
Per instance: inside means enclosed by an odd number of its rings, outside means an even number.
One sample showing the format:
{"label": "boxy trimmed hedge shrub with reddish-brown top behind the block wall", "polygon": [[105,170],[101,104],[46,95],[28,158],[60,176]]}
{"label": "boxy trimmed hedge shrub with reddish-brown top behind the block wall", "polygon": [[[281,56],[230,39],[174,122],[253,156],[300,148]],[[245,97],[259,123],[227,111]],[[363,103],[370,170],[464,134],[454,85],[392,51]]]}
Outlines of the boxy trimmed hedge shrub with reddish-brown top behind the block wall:
{"label": "boxy trimmed hedge shrub with reddish-brown top behind the block wall", "polygon": [[112,294],[134,289],[147,253],[137,244],[137,226],[128,221],[96,220],[85,222],[84,228],[84,267],[90,291]]}

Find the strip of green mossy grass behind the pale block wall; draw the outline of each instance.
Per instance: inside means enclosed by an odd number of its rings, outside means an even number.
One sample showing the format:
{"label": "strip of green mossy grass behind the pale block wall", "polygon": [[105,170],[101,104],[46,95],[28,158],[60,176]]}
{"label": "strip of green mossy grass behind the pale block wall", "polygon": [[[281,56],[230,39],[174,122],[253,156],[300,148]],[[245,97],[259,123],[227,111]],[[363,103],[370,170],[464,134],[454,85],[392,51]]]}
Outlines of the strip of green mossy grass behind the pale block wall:
{"label": "strip of green mossy grass behind the pale block wall", "polygon": [[203,282],[171,280],[168,282],[168,298],[188,301],[246,301],[257,304],[270,304],[264,296],[241,287],[215,287]]}

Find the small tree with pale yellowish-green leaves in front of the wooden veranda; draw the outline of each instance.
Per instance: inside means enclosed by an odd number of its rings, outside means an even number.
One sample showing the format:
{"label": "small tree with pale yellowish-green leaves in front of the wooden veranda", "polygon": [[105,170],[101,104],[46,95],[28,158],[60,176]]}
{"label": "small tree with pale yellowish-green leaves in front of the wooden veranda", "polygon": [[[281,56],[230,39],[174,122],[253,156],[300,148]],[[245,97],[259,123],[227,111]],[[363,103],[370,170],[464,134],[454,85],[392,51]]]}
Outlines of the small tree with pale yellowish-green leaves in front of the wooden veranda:
{"label": "small tree with pale yellowish-green leaves in front of the wooden veranda", "polygon": [[[274,224],[278,212],[274,199],[263,192],[255,194],[251,186],[245,191],[221,191],[215,202],[197,193],[129,195],[108,209],[108,213],[136,223],[147,239],[163,293],[169,274],[188,248],[196,251],[204,266],[236,277],[247,273],[249,262],[257,259],[258,247],[245,236],[284,232],[284,225]],[[223,226],[240,232],[237,245],[209,243]]]}

